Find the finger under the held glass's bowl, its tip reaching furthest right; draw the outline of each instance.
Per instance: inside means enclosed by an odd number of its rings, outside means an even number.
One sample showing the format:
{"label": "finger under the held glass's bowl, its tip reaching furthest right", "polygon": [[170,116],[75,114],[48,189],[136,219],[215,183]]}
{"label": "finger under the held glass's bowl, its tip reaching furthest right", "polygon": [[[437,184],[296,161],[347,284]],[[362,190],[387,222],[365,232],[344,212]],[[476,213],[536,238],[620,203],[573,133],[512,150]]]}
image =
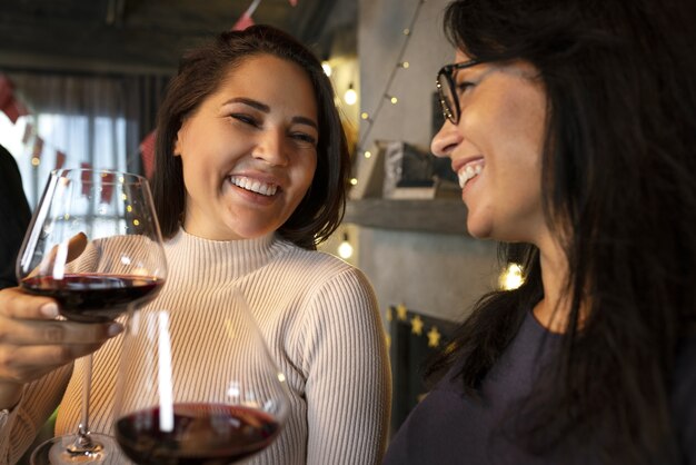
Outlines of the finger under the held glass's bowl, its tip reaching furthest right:
{"label": "finger under the held glass's bowl, its tip reaching furthest right", "polygon": [[103,344],[123,330],[123,325],[110,323],[74,323],[27,319],[0,320],[1,345]]}

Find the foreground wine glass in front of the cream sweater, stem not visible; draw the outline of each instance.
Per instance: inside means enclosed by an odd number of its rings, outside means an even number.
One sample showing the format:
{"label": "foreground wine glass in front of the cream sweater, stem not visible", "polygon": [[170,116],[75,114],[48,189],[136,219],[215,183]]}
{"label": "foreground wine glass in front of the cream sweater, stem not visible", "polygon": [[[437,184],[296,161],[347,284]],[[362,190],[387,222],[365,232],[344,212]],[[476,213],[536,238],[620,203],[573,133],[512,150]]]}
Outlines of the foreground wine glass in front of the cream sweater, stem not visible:
{"label": "foreground wine glass in front of the cream sweater, stem not visible", "polygon": [[113,429],[137,464],[240,463],[278,437],[285,376],[241,291],[225,293],[210,311],[158,299],[129,314]]}

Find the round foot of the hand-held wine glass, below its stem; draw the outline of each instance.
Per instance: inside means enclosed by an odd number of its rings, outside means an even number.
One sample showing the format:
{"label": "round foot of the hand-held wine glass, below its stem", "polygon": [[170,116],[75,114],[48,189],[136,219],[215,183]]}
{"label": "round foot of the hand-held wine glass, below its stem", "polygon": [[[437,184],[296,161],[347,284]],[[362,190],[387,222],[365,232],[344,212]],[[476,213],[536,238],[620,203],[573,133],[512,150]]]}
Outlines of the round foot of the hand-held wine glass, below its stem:
{"label": "round foot of the hand-held wine glass, below its stem", "polygon": [[118,464],[123,462],[123,456],[111,436],[90,433],[88,438],[91,439],[91,444],[84,446],[77,434],[53,437],[33,451],[30,464]]}

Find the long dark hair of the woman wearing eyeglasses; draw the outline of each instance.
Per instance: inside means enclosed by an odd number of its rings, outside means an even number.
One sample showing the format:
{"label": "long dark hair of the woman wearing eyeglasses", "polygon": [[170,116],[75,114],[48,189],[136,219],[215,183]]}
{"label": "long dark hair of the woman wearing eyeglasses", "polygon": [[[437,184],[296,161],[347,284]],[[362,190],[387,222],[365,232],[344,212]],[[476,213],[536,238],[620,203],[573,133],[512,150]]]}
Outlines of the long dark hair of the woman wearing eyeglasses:
{"label": "long dark hair of the woman wearing eyeglasses", "polygon": [[[453,44],[481,61],[533,63],[548,97],[545,212],[569,264],[571,305],[560,349],[517,410],[531,414],[515,437],[533,453],[591,438],[605,463],[679,461],[669,403],[696,317],[695,19],[689,1],[446,9]],[[457,376],[477,395],[543,298],[539,250],[504,244],[500,255],[524,264],[524,285],[475,305],[430,380],[463,363]]]}

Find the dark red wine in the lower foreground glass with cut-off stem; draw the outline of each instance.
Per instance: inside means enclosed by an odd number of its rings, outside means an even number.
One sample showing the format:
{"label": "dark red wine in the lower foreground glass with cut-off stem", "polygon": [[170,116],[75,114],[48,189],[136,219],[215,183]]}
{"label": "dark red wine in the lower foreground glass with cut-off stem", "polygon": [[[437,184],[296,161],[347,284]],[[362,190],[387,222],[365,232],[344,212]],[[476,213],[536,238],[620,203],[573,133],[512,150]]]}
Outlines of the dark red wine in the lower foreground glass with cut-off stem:
{"label": "dark red wine in the lower foreground glass with cut-off stem", "polygon": [[267,447],[280,431],[268,413],[222,404],[175,404],[121,417],[116,439],[140,465],[230,464]]}

